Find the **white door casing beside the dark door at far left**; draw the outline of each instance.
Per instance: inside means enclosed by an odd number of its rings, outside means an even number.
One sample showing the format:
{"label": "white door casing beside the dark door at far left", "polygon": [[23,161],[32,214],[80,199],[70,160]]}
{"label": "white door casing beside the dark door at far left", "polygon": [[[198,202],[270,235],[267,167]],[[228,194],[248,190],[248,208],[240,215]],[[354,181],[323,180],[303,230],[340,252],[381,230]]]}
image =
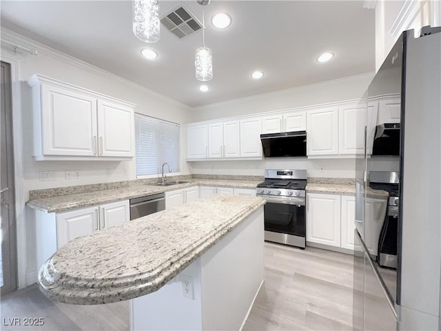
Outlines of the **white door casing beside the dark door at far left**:
{"label": "white door casing beside the dark door at far left", "polygon": [[[2,30],[3,33],[3,30]],[[15,214],[17,225],[17,287],[25,288],[28,282],[26,268],[28,256],[26,254],[26,226],[25,226],[25,197],[23,197],[23,158],[21,146],[23,146],[22,114],[21,114],[21,82],[20,61],[2,52],[1,61],[10,63],[12,79],[12,134],[14,139],[14,185],[15,185]],[[34,282],[32,282],[34,283]]]}

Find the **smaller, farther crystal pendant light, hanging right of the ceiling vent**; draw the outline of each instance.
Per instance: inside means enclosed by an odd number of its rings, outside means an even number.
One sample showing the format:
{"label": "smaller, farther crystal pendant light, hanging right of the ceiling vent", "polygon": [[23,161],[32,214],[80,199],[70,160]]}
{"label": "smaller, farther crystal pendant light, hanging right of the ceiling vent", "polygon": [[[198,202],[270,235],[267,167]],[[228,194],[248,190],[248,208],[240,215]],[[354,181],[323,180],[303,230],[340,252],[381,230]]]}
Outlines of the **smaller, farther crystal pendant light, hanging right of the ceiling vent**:
{"label": "smaller, farther crystal pendant light, hanging right of the ceiling vent", "polygon": [[[197,0],[201,6],[206,6],[210,0]],[[205,21],[202,9],[202,47],[196,50],[194,66],[196,67],[196,79],[198,81],[210,81],[213,79],[212,50],[205,47]]]}

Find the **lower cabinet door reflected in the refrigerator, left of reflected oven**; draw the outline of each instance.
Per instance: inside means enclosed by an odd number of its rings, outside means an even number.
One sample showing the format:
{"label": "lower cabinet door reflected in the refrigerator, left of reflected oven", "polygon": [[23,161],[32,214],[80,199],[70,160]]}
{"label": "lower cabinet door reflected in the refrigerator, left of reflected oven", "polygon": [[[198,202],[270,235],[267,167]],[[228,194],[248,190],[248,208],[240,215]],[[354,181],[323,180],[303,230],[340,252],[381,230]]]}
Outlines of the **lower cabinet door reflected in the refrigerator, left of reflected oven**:
{"label": "lower cabinet door reflected in the refrigerator, left of reflected oven", "polygon": [[386,199],[366,199],[365,204],[365,243],[369,253],[377,255],[378,239],[386,217]]}

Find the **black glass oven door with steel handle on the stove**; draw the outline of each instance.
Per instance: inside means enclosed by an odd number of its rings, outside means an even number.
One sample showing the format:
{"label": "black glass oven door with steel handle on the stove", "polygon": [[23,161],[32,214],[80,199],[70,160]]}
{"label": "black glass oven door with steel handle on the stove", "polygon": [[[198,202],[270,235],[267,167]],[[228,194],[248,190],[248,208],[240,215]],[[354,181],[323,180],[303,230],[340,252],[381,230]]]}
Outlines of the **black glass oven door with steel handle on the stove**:
{"label": "black glass oven door with steel handle on the stove", "polygon": [[305,199],[265,197],[265,231],[306,237]]}

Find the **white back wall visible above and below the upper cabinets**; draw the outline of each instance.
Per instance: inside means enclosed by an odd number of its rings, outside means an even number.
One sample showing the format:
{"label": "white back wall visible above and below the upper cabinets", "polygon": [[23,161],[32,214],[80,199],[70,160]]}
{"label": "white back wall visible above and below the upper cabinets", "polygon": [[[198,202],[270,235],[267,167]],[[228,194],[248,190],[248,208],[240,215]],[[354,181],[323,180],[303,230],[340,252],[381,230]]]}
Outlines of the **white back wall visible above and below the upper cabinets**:
{"label": "white back wall visible above and below the upper cabinets", "polygon": [[[192,121],[208,121],[225,117],[286,110],[302,106],[313,106],[360,99],[367,90],[373,74],[361,74],[344,79],[325,81],[299,88],[260,94],[254,97],[230,100],[194,108]],[[306,169],[308,177],[355,178],[353,159],[307,159],[276,158],[262,161],[198,161],[189,162],[194,174],[242,174],[263,176],[263,170]]]}

